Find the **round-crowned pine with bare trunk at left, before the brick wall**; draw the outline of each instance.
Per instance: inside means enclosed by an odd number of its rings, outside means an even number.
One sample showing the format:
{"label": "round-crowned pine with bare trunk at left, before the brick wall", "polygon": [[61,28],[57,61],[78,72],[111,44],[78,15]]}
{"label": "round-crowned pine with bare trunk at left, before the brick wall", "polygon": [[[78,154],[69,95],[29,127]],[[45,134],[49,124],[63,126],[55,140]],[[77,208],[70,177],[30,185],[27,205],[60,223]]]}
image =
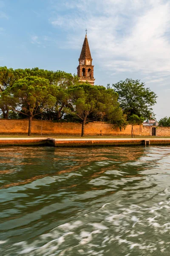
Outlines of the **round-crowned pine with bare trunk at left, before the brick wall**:
{"label": "round-crowned pine with bare trunk at left, before the brick wall", "polygon": [[51,86],[47,79],[30,76],[19,79],[2,93],[12,110],[28,116],[28,136],[31,135],[32,118],[47,105],[52,107],[56,102],[56,98],[50,94]]}

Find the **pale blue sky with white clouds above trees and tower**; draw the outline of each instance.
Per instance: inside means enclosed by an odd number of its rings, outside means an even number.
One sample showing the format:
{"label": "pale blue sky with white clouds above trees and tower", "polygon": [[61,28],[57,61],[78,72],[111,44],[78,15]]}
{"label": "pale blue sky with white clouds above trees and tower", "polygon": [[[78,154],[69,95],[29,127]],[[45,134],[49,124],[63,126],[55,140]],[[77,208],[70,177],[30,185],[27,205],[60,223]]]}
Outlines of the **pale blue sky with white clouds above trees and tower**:
{"label": "pale blue sky with white clouds above trees and tower", "polygon": [[77,74],[86,28],[95,84],[140,79],[170,116],[170,0],[0,0],[0,66]]}

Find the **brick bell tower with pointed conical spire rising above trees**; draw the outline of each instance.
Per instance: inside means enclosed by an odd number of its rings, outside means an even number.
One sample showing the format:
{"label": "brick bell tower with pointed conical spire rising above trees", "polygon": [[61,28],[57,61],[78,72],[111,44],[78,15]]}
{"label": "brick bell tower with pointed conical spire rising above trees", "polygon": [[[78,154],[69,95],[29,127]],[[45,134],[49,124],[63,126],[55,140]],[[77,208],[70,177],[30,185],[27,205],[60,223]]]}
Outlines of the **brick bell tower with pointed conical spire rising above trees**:
{"label": "brick bell tower with pointed conical spire rising above trees", "polygon": [[79,57],[79,66],[77,67],[79,82],[87,81],[89,84],[94,85],[94,65],[92,65],[92,60],[86,30],[85,40]]}

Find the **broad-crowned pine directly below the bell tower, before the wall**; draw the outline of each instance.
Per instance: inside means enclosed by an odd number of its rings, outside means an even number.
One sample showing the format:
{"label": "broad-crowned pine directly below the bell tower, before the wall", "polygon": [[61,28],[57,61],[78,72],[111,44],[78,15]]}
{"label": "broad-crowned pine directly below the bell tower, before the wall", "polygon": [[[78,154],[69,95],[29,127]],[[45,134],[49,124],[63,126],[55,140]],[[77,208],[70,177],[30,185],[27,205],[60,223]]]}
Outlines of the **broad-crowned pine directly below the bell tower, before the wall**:
{"label": "broad-crowned pine directly below the bell tower, before the wall", "polygon": [[117,102],[118,94],[113,89],[91,84],[79,84],[71,87],[71,111],[82,121],[82,134],[84,136],[85,123],[107,116],[111,122],[122,118],[122,111]]}

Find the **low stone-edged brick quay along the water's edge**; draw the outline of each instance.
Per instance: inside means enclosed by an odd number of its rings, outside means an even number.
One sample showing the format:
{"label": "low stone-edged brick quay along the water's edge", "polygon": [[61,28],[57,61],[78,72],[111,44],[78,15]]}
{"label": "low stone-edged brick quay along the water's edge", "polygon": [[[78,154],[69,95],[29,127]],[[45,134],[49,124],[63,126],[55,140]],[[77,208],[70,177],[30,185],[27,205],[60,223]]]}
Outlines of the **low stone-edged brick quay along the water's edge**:
{"label": "low stone-edged brick quay along the water's edge", "polygon": [[48,145],[53,147],[84,147],[84,146],[128,146],[128,145],[170,145],[167,138],[0,138],[0,146],[8,145]]}

